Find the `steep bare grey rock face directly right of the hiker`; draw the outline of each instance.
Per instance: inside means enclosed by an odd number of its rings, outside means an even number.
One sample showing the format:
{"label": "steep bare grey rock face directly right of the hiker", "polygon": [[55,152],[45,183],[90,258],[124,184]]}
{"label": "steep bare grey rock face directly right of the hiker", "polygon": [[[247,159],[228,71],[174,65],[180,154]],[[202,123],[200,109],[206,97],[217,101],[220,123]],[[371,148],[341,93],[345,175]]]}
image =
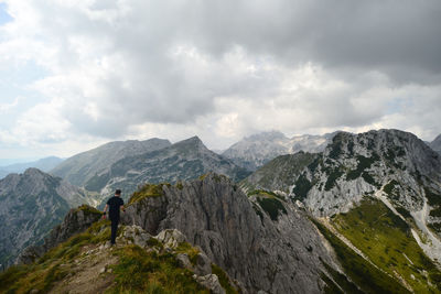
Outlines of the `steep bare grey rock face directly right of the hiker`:
{"label": "steep bare grey rock face directly right of the hiker", "polygon": [[334,263],[315,228],[290,203],[283,202],[283,211],[273,220],[228,178],[216,174],[179,187],[163,185],[162,192],[162,196],[133,203],[122,221],[151,235],[181,231],[246,293],[322,291],[320,276],[325,270],[320,258]]}

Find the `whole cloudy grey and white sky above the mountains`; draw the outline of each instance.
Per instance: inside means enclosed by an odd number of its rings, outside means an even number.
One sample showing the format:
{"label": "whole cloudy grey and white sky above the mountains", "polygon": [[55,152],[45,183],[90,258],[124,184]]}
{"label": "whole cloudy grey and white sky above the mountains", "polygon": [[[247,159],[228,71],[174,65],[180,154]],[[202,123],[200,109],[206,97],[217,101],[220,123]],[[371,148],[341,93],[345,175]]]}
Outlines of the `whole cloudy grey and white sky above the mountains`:
{"label": "whole cloudy grey and white sky above the mountains", "polygon": [[0,159],[441,133],[439,0],[0,0]]}

